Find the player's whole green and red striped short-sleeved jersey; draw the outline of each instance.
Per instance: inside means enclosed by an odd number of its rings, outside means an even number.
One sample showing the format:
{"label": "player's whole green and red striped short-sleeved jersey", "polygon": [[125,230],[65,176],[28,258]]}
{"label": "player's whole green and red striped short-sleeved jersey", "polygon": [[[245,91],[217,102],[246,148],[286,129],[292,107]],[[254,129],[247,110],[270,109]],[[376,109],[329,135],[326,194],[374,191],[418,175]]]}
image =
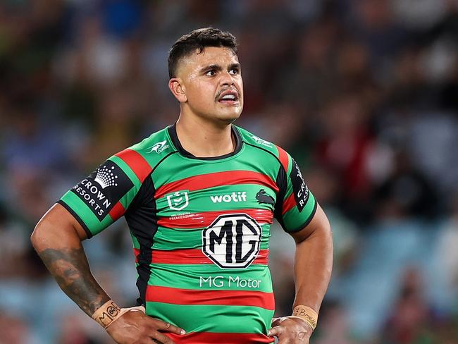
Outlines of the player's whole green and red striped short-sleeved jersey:
{"label": "player's whole green and red striped short-sleeved jersey", "polygon": [[316,201],[280,147],[235,125],[233,153],[198,158],[175,125],[111,156],[58,201],[87,231],[128,223],[138,304],[184,328],[176,343],[273,343],[268,245],[273,217],[287,232]]}

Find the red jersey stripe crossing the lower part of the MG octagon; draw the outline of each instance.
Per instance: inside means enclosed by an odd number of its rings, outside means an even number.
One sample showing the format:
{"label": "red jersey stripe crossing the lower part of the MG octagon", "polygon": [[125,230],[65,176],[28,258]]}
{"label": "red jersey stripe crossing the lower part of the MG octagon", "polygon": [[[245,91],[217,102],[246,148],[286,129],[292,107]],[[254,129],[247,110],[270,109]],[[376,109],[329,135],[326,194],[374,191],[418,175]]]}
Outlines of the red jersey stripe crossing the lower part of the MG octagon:
{"label": "red jersey stripe crossing the lower part of the MG octagon", "polygon": [[[134,248],[135,263],[138,263],[140,250]],[[187,250],[153,250],[152,264],[214,264],[204,252],[199,249]],[[268,250],[259,250],[258,256],[252,264],[268,264]]]}

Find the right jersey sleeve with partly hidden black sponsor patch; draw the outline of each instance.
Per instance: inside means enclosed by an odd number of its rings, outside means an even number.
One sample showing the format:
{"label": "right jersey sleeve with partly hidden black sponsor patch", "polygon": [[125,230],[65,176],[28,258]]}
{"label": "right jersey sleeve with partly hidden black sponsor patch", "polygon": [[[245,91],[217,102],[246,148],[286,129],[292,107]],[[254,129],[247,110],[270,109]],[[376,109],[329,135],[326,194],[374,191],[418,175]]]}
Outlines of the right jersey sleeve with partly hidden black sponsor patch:
{"label": "right jersey sleeve with partly hidden black sponsor patch", "polygon": [[317,203],[295,159],[280,147],[278,152],[281,166],[277,176],[279,192],[274,215],[286,232],[297,232],[314,217]]}

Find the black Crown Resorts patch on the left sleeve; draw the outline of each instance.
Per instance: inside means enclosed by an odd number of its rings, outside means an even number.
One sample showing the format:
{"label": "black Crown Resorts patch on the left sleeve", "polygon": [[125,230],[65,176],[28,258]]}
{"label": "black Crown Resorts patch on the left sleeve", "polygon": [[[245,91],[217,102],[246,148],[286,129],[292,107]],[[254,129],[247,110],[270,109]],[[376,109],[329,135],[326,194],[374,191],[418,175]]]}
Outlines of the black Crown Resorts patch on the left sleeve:
{"label": "black Crown Resorts patch on the left sleeve", "polygon": [[132,186],[132,181],[124,171],[113,161],[107,160],[89,177],[75,185],[72,192],[101,221]]}

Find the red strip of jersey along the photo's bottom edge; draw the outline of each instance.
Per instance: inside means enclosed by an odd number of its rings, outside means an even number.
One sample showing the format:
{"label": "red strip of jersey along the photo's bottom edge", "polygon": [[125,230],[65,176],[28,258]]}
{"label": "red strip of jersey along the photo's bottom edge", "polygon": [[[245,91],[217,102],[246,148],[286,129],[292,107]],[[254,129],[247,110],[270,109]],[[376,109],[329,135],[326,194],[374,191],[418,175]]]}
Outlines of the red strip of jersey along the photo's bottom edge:
{"label": "red strip of jersey along the photo's bottom edge", "polygon": [[177,344],[234,344],[234,343],[273,343],[273,337],[259,333],[213,333],[213,332],[190,332],[184,336],[175,333],[164,333]]}

